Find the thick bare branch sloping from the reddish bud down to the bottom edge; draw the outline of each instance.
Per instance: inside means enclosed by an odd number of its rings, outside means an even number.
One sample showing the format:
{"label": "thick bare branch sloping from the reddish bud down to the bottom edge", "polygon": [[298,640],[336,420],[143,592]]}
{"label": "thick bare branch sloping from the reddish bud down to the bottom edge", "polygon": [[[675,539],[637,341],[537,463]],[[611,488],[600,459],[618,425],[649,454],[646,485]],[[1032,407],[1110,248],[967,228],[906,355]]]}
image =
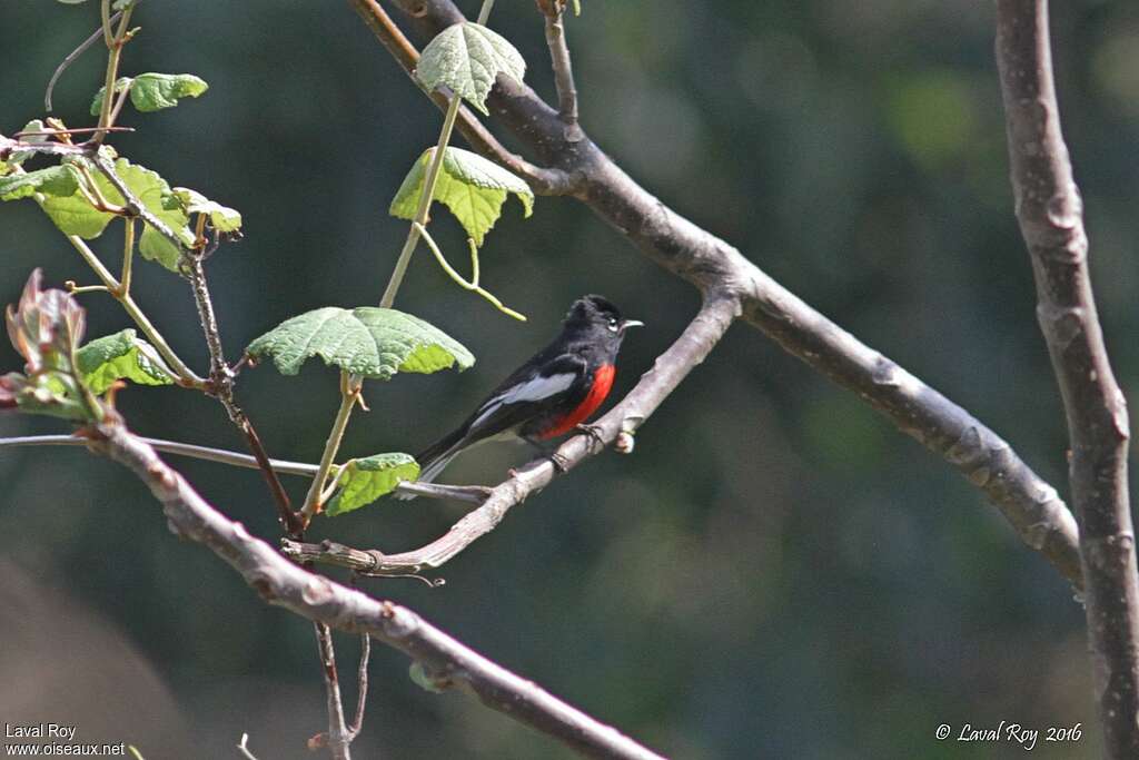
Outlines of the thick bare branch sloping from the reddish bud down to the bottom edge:
{"label": "thick bare branch sloping from the reddish bud down to the bottom edge", "polygon": [[123,425],[100,425],[88,434],[93,448],[129,467],[146,483],[181,537],[206,545],[267,602],[330,628],[370,634],[421,662],[439,686],[468,690],[487,706],[583,754],[661,760],[615,728],[467,648],[407,607],[377,602],[281,557],[271,546],[249,536],[240,523],[210,506]]}

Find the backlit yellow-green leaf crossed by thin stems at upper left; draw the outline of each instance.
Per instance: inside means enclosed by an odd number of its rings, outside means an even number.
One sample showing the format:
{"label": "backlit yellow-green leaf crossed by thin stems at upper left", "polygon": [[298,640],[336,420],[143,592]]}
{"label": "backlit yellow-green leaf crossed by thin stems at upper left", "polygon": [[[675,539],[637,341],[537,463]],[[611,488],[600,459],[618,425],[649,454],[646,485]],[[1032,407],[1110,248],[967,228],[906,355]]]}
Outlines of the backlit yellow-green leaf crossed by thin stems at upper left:
{"label": "backlit yellow-green leaf crossed by thin stems at upper left", "polygon": [[[100,172],[92,170],[90,173],[99,191],[108,202],[125,203],[125,198]],[[194,232],[189,228],[189,216],[186,215],[186,212],[181,209],[166,209],[163,205],[163,196],[171,193],[166,180],[145,166],[132,164],[126,158],[120,158],[115,162],[115,173],[142,202],[142,205],[164,221],[186,245],[194,243]],[[79,191],[66,197],[47,198],[43,203],[43,211],[65,235],[77,235],[87,239],[99,237],[114,219],[114,214],[96,210]],[[142,236],[139,239],[139,252],[144,259],[157,261],[166,269],[178,271],[181,251],[149,224],[144,224]]]}

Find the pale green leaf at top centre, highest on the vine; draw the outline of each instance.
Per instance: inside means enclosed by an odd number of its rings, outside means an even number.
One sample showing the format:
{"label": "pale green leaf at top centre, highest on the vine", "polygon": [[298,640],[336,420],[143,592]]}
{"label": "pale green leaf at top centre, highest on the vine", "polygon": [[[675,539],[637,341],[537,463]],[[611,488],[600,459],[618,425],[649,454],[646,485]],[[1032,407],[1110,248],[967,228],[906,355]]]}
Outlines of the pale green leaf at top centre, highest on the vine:
{"label": "pale green leaf at top centre, highest on the vine", "polygon": [[472,22],[440,32],[416,67],[428,90],[445,85],[487,116],[486,96],[500,73],[521,84],[526,62],[501,34]]}

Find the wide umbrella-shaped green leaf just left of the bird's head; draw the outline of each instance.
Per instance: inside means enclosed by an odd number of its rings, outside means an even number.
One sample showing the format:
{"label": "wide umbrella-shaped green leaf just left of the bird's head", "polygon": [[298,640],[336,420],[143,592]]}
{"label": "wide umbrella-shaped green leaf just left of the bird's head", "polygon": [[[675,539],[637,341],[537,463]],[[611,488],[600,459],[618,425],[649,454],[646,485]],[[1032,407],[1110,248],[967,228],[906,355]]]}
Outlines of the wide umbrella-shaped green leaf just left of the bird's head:
{"label": "wide umbrella-shaped green leaf just left of the bird's head", "polygon": [[272,357],[282,375],[295,375],[309,358],[377,379],[396,373],[434,373],[475,358],[437,327],[395,309],[325,307],[286,319],[245,350],[251,357]]}

